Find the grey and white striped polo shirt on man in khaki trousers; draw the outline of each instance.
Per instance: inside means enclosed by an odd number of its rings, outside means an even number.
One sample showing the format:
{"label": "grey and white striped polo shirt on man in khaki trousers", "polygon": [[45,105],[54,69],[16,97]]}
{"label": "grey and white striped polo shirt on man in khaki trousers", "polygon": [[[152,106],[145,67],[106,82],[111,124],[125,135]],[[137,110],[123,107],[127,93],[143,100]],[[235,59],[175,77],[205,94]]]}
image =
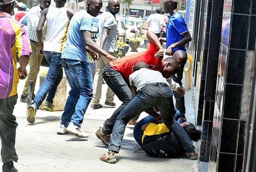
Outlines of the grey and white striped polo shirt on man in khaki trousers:
{"label": "grey and white striped polo shirt on man in khaki trousers", "polygon": [[104,11],[100,15],[99,33],[96,41],[98,46],[100,46],[100,39],[103,32],[103,28],[106,28],[109,30],[103,49],[108,52],[117,51],[117,48],[116,48],[117,22],[116,22],[115,16],[111,14],[110,11]]}

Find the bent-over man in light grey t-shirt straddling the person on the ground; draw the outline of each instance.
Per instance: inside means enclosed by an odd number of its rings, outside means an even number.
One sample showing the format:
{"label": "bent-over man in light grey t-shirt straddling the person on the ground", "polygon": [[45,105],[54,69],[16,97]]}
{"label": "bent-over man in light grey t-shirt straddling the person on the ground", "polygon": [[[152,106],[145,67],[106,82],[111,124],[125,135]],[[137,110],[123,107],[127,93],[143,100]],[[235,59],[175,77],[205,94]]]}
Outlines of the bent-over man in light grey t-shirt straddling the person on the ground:
{"label": "bent-over man in light grey t-shirt straddling the person on the ground", "polygon": [[[175,74],[178,70],[178,61],[170,57],[170,71]],[[115,153],[119,153],[126,124],[137,114],[152,107],[157,107],[161,112],[164,124],[175,134],[181,147],[185,150],[184,156],[189,157],[189,159],[197,159],[195,146],[191,139],[173,118],[174,105],[169,83],[159,71],[149,70],[147,64],[143,62],[136,64],[133,71],[129,80],[133,92],[136,93],[137,91],[138,94],[117,116],[108,153],[101,155],[100,160],[116,163]]]}

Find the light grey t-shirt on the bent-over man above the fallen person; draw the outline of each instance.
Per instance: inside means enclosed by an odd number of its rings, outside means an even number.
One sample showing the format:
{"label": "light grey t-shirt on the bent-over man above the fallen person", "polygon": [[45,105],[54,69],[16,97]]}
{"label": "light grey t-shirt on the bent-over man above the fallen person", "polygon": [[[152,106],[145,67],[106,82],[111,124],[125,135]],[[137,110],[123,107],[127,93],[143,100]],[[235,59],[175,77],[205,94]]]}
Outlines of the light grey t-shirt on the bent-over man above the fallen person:
{"label": "light grey t-shirt on the bent-over man above the fallen person", "polygon": [[146,84],[150,83],[165,83],[170,86],[166,79],[163,77],[162,73],[146,68],[140,68],[140,70],[133,72],[129,76],[129,81],[132,86],[137,87],[137,91],[139,91],[140,88]]}

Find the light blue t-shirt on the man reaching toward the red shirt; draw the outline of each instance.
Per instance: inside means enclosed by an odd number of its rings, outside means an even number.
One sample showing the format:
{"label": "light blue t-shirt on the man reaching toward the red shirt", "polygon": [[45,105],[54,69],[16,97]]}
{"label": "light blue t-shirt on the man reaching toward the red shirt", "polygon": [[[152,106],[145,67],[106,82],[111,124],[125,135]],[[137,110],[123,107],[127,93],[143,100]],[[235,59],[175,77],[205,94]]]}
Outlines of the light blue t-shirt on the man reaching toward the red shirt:
{"label": "light blue t-shirt on the man reaching toward the red shirt", "polygon": [[67,41],[61,58],[88,62],[84,43],[84,31],[92,32],[92,16],[85,10],[78,11],[70,20]]}

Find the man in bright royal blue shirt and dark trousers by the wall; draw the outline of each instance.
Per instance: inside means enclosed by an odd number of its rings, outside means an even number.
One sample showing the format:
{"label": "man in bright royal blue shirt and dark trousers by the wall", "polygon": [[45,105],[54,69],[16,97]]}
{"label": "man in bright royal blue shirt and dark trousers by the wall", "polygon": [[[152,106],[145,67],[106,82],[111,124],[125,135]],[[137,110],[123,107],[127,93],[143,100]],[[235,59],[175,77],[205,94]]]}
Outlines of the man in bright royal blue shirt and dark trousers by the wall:
{"label": "man in bright royal blue shirt and dark trousers by the wall", "polygon": [[[182,17],[182,15],[177,10],[177,0],[164,0],[164,12],[169,13],[169,22],[166,26],[166,38],[160,38],[160,41],[166,41],[166,54],[171,56],[177,50],[182,50],[187,53],[185,44],[191,41],[191,36],[188,32],[188,27]],[[172,79],[180,84],[182,87],[182,77],[183,69],[186,64],[185,60],[183,64],[180,65],[180,69],[177,72],[177,76],[172,76]],[[179,93],[173,92],[176,99],[176,108],[180,111],[180,123],[186,121],[185,113],[185,99],[184,96],[180,96]]]}

